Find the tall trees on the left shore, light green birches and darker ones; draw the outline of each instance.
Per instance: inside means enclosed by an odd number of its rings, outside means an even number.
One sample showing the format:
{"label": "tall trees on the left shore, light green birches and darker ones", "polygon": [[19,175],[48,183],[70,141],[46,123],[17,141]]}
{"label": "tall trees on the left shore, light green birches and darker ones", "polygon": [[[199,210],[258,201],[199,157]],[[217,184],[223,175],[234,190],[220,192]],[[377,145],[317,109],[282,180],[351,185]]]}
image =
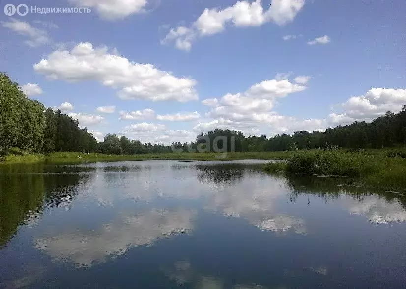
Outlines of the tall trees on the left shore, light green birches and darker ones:
{"label": "tall trees on the left shore, light green birches and darker ones", "polygon": [[97,142],[77,119],[60,110],[45,110],[0,73],[0,152],[16,147],[32,153],[96,151]]}

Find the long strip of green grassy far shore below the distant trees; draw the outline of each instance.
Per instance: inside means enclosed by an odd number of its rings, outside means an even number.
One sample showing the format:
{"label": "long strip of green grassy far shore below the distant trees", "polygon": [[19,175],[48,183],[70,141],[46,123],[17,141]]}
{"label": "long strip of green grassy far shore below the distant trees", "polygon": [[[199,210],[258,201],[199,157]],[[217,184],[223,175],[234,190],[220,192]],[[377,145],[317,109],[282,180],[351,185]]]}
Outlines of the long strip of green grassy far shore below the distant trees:
{"label": "long strip of green grassy far shore below the distant trees", "polygon": [[126,160],[152,160],[152,159],[185,159],[185,160],[242,160],[242,159],[286,159],[291,152],[233,152],[227,153],[225,158],[219,153],[166,153],[166,154],[140,154],[140,155],[107,155],[82,154],[78,152],[53,152],[48,155],[29,154],[25,152],[10,151],[6,156],[0,157],[2,163],[24,162],[82,162],[82,161],[126,161]]}

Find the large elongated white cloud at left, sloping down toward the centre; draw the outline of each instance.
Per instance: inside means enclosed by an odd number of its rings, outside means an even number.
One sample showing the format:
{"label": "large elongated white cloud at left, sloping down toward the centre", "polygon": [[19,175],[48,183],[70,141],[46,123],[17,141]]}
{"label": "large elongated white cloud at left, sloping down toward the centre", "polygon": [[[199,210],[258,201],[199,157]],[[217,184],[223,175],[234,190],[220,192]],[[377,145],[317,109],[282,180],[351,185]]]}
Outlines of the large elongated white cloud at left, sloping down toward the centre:
{"label": "large elongated white cloud at left, sloping down toward the centre", "polygon": [[95,80],[105,86],[120,88],[118,96],[122,99],[179,102],[198,99],[196,80],[177,78],[152,64],[131,62],[108,53],[107,47],[94,49],[91,43],[80,43],[71,51],[56,50],[33,67],[50,79]]}

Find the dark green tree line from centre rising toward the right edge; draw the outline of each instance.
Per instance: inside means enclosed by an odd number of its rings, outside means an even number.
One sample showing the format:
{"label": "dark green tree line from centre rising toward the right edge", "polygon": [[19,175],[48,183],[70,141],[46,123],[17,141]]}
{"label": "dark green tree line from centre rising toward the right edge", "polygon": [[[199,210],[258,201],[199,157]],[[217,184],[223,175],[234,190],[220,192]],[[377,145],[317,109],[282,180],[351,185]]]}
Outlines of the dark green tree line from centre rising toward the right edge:
{"label": "dark green tree line from centre rising toward the right edge", "polygon": [[[267,138],[265,135],[248,136],[240,131],[216,129],[198,136],[208,137],[210,143],[217,136],[226,136],[227,151],[234,142],[236,152],[288,151],[300,149],[384,148],[406,145],[406,105],[398,113],[387,112],[372,123],[356,121],[350,125],[328,128],[326,131],[296,131]],[[233,139],[232,139],[233,137]],[[193,143],[192,143],[193,144]],[[219,145],[221,146],[221,145]],[[213,148],[210,148],[213,151]]]}

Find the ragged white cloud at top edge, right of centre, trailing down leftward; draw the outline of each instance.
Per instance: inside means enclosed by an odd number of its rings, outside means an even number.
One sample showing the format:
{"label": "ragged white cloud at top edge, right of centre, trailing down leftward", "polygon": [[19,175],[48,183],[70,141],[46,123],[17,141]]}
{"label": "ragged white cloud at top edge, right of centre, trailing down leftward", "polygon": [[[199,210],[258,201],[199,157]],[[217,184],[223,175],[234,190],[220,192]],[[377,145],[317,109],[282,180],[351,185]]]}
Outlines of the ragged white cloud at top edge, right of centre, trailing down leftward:
{"label": "ragged white cloud at top edge, right of centre, trailing down leftward", "polygon": [[305,0],[272,0],[269,9],[264,10],[261,0],[242,0],[223,10],[207,8],[189,27],[172,28],[161,43],[174,43],[176,48],[189,51],[198,37],[220,33],[227,26],[261,26],[268,22],[282,26],[292,22],[304,4]]}

